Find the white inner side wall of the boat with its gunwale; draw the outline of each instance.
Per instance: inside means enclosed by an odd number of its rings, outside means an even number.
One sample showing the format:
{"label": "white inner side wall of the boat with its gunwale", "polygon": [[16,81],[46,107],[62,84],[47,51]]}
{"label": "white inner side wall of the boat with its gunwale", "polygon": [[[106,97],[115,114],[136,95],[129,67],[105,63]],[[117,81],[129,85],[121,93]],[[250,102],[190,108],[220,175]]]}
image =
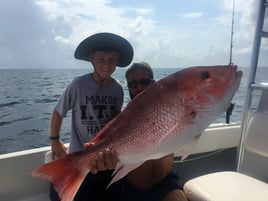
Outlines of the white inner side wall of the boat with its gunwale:
{"label": "white inner side wall of the boat with its gunwale", "polygon": [[[240,125],[213,125],[203,133],[194,154],[236,147]],[[0,200],[49,200],[49,183],[31,171],[44,163],[50,147],[0,155]]]}

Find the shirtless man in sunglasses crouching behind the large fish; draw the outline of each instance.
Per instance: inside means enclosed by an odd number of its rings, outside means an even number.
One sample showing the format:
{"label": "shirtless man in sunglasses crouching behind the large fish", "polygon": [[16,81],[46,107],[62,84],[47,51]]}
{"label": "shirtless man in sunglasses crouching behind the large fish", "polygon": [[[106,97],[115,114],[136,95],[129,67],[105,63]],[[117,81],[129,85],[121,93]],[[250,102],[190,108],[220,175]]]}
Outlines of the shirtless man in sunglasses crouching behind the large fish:
{"label": "shirtless man in sunglasses crouching behind the large fish", "polygon": [[[153,71],[147,63],[134,63],[126,72],[129,95],[134,98],[154,82]],[[148,89],[150,90],[150,89]],[[94,172],[116,165],[115,155],[106,153],[97,159]],[[114,164],[112,165],[112,163]],[[144,162],[110,188],[111,200],[117,201],[186,201],[173,170],[173,154]]]}

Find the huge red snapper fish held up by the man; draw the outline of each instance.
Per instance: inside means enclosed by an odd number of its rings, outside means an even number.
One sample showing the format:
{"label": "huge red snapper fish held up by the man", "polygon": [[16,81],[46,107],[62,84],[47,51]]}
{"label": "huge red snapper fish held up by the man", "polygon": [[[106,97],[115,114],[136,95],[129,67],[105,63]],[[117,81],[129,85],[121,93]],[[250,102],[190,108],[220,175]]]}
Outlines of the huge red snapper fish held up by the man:
{"label": "huge red snapper fish held up by the man", "polygon": [[190,67],[149,86],[83,151],[44,164],[32,171],[54,184],[63,201],[73,200],[97,153],[115,150],[119,162],[109,185],[146,160],[170,153],[191,153],[202,132],[228,108],[239,87],[237,66]]}

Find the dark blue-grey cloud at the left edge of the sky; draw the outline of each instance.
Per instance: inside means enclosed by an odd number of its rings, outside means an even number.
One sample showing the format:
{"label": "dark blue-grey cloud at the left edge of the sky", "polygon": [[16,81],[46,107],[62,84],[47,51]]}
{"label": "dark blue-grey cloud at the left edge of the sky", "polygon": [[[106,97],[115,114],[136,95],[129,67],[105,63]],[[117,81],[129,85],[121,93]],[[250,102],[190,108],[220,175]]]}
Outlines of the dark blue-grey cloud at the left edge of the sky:
{"label": "dark blue-grey cloud at the left edge of the sky", "polygon": [[[55,40],[68,36],[70,27],[63,20],[49,20],[33,0],[0,1],[1,68],[60,67],[71,58],[68,44]],[[67,47],[66,47],[67,46]]]}

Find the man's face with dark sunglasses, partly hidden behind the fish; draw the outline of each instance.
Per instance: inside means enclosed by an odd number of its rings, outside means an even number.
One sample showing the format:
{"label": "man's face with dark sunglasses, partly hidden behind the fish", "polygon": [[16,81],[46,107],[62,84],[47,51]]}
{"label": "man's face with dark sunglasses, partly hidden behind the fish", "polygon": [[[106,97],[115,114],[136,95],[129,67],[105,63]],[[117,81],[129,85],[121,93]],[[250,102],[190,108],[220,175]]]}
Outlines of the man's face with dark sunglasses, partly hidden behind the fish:
{"label": "man's face with dark sunglasses, partly hidden behind the fish", "polygon": [[129,95],[134,98],[137,94],[148,87],[153,80],[150,78],[148,72],[144,70],[132,71],[127,77]]}

